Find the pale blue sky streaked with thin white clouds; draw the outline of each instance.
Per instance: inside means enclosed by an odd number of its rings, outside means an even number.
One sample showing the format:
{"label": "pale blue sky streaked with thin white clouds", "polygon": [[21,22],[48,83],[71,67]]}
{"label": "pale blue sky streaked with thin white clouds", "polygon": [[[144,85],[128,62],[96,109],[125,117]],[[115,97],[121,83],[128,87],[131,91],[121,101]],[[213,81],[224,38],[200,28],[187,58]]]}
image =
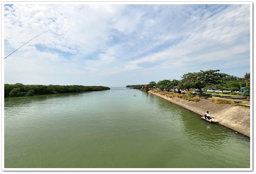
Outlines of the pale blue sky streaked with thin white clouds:
{"label": "pale blue sky streaked with thin white clouds", "polygon": [[244,77],[252,70],[250,8],[7,2],[2,78],[4,84],[125,87],[200,70]]}

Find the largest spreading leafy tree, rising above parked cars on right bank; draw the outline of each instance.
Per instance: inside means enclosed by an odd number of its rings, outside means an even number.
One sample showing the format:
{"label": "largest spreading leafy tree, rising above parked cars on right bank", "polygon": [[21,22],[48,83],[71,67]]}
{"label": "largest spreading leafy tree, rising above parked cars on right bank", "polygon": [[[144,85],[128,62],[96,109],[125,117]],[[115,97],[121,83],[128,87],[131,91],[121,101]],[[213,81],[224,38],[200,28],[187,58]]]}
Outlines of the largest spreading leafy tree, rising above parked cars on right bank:
{"label": "largest spreading leafy tree, rising above parked cars on right bank", "polygon": [[[189,86],[191,88],[198,88],[202,93],[202,88],[209,85],[224,84],[223,78],[228,74],[218,73],[220,70],[207,70],[200,72],[193,72],[184,74],[180,83],[185,83],[183,86]],[[182,85],[182,84],[181,84]]]}

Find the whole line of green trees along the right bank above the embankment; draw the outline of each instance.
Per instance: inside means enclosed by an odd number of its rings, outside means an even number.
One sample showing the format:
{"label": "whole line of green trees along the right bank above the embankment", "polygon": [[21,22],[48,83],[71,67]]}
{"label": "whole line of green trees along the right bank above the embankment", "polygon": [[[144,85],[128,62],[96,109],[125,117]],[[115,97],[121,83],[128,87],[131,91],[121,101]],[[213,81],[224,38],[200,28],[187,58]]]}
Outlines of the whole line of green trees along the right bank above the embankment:
{"label": "whole line of green trees along the right bank above the embankment", "polygon": [[[246,96],[250,96],[250,72],[244,75],[244,78],[228,75],[225,73],[219,73],[220,70],[207,70],[193,73],[186,73],[181,76],[181,80],[160,80],[158,83],[150,82],[148,87],[157,86],[158,88],[167,89],[199,89],[200,93],[202,89],[221,89],[236,91],[241,87],[245,87],[242,91],[247,90]],[[136,85],[127,85],[126,87],[132,87]],[[139,85],[141,88],[142,85]],[[134,88],[134,89],[139,89]],[[148,89],[146,89],[148,90]],[[223,93],[224,94],[224,93]],[[232,93],[233,94],[233,93]],[[238,94],[238,93],[234,93]],[[240,95],[240,94],[239,94]]]}

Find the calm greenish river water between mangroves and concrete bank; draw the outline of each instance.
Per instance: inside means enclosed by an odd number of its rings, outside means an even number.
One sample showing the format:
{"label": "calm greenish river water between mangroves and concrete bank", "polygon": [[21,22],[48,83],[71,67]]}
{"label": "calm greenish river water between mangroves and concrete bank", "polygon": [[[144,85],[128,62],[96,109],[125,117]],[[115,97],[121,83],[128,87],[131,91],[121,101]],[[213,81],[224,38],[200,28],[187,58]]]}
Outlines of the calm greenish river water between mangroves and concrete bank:
{"label": "calm greenish river water between mangroves and concrete bank", "polygon": [[196,116],[125,88],[5,98],[4,168],[250,168],[249,137]]}

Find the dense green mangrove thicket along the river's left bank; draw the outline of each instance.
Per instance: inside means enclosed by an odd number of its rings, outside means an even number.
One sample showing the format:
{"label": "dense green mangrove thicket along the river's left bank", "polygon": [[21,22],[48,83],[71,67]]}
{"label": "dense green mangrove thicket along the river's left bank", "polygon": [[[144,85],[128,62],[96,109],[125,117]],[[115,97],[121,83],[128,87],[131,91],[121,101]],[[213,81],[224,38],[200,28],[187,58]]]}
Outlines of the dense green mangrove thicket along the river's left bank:
{"label": "dense green mangrove thicket along the river's left bank", "polygon": [[43,94],[61,94],[71,92],[86,92],[86,91],[100,91],[109,90],[105,86],[83,86],[83,85],[23,85],[4,84],[4,97],[22,97],[34,96]]}

